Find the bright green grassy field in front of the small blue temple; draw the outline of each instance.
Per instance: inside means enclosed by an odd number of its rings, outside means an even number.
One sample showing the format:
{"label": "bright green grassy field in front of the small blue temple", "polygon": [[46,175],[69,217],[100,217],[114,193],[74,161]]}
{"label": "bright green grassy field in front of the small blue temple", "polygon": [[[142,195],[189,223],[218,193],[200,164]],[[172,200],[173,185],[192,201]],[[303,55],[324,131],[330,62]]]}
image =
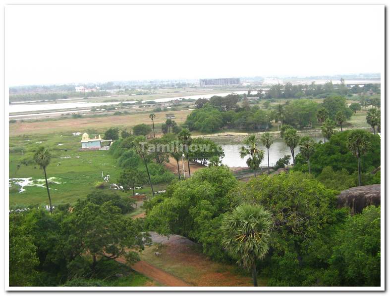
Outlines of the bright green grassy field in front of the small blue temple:
{"label": "bright green grassy field in front of the small blue temple", "polygon": [[[104,175],[110,174],[110,183],[115,183],[121,168],[109,151],[79,151],[81,135],[33,134],[27,138],[11,136],[9,138],[9,178],[32,178],[36,184],[44,184],[44,173],[34,163],[21,164],[22,159],[29,159],[41,145],[49,147],[53,156],[47,168],[48,178],[55,177],[49,184],[54,205],[74,203],[79,198],[85,198],[93,190],[116,192],[121,196],[130,196],[128,193],[112,189],[96,189],[96,185],[103,181]],[[58,145],[62,144],[62,145]],[[66,151],[65,151],[66,150]],[[18,168],[19,165],[19,168]],[[16,180],[18,181],[18,180]],[[27,207],[35,204],[48,204],[46,187],[26,186],[20,191],[15,181],[10,181],[9,206]],[[164,185],[155,185],[156,191]],[[136,192],[150,194],[150,187],[144,186]]]}

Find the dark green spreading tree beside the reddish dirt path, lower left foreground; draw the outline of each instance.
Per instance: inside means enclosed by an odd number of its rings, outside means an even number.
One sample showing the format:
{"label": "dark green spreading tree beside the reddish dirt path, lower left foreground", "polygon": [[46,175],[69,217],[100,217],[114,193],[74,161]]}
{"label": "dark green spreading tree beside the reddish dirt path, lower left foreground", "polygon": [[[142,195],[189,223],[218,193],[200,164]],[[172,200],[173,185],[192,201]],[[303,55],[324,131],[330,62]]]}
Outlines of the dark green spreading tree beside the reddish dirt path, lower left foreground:
{"label": "dark green spreading tree beside the reddish dirt path, lower left foreground", "polygon": [[63,227],[67,248],[77,246],[72,252],[78,256],[92,255],[92,270],[99,261],[120,256],[134,263],[139,260],[138,252],[150,241],[141,225],[125,217],[111,201],[97,205],[79,200]]}

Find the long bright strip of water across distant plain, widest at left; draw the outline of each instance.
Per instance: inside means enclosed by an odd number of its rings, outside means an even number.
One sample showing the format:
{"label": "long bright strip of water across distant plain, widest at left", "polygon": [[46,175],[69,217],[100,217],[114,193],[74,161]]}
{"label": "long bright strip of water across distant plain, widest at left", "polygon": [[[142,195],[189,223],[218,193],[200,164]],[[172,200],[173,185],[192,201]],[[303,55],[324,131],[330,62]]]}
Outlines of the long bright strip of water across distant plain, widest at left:
{"label": "long bright strip of water across distant plain, widest at left", "polygon": [[[234,93],[243,94],[247,93],[247,90],[233,91]],[[226,96],[231,92],[223,92],[223,93],[212,93],[212,94],[197,94],[197,95],[187,95],[187,96],[176,96],[170,98],[162,98],[162,99],[154,99],[156,103],[164,103],[172,100],[176,100],[179,98],[185,99],[198,99],[198,98],[206,98],[209,99],[214,95],[218,96]],[[117,99],[117,97],[114,97]],[[147,102],[142,101],[142,103]],[[150,100],[149,100],[150,101]],[[117,105],[119,103],[135,103],[138,101],[122,101],[122,102],[102,102],[102,103],[92,103],[92,102],[67,102],[67,103],[50,103],[50,104],[11,104],[8,106],[9,114],[17,113],[17,112],[31,112],[31,111],[49,111],[56,109],[76,109],[76,108],[92,108],[98,106],[106,106],[106,105]],[[70,112],[70,111],[68,111]]]}

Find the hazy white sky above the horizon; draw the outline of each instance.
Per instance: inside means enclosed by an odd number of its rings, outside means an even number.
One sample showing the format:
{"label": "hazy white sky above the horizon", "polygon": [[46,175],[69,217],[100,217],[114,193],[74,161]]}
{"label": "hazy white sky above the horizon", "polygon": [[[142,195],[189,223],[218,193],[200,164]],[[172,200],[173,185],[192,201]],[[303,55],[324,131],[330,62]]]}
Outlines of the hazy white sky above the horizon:
{"label": "hazy white sky above the horizon", "polygon": [[9,5],[8,85],[381,72],[378,6]]}

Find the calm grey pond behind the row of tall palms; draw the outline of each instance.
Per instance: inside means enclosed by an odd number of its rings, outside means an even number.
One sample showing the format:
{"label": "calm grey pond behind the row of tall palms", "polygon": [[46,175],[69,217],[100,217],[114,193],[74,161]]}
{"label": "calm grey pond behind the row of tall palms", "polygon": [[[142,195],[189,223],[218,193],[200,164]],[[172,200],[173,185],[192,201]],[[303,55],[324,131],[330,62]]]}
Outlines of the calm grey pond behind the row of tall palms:
{"label": "calm grey pond behind the row of tall palms", "polygon": [[[314,141],[319,142],[320,140],[324,141],[323,137],[311,137]],[[221,145],[223,148],[223,152],[225,154],[225,157],[222,159],[222,164],[226,165],[228,167],[247,167],[246,160],[249,158],[249,156],[245,158],[240,158],[239,151],[243,144],[223,144]],[[260,149],[264,151],[264,159],[261,163],[261,166],[267,166],[268,159],[267,159],[267,148],[263,145],[259,145]],[[299,153],[299,147],[294,149],[295,155]],[[290,148],[287,147],[287,145],[281,140],[276,140],[270,148],[270,166],[273,166],[276,164],[276,162],[284,157],[284,155],[290,155],[291,151]],[[291,157],[291,163],[292,163],[292,157]]]}

